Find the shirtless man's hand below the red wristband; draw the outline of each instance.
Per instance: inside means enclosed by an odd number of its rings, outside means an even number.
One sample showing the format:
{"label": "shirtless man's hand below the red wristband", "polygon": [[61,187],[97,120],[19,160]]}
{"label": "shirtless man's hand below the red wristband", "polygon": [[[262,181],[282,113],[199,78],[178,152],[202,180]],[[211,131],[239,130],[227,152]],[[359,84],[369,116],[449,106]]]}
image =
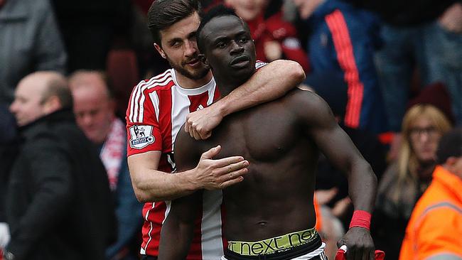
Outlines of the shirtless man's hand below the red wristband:
{"label": "shirtless man's hand below the red wristband", "polygon": [[363,227],[352,227],[337,242],[337,247],[345,244],[348,248],[347,260],[374,260],[375,247],[369,230]]}

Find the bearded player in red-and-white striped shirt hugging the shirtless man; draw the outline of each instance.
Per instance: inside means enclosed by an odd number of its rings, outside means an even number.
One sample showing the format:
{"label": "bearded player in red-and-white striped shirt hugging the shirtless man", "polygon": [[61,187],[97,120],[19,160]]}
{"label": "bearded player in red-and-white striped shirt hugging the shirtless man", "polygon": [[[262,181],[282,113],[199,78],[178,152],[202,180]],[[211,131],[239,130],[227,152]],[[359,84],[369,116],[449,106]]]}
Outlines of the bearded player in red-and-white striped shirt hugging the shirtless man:
{"label": "bearded player in red-and-white striped shirt hugging the shirtless man", "polygon": [[[145,202],[142,259],[157,257],[161,227],[170,206],[168,200],[198,189],[213,190],[239,183],[247,172],[248,162],[242,156],[213,160],[220,152],[220,147],[216,147],[203,153],[197,166],[171,174],[175,170],[173,142],[185,120],[191,136],[206,138],[227,114],[280,97],[304,79],[298,63],[275,61],[207,108],[220,94],[212,72],[198,60],[195,31],[200,23],[199,12],[196,0],[156,0],[148,13],[154,47],[173,68],[141,81],[131,93],[127,109],[131,183],[138,200]],[[284,75],[289,75],[289,79]],[[224,175],[229,168],[234,174],[232,179]],[[188,259],[216,259],[222,255],[219,200],[220,193],[212,191],[204,197],[198,227],[208,228],[199,228],[195,233],[197,239]]]}

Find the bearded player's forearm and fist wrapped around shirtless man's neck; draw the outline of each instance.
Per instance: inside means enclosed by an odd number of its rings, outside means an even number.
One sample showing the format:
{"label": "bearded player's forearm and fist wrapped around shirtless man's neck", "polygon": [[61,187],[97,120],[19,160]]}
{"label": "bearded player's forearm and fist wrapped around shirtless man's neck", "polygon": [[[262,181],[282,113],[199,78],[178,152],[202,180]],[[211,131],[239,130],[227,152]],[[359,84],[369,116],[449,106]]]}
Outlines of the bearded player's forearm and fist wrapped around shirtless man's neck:
{"label": "bearded player's forearm and fist wrapped around shirtless man's neck", "polygon": [[185,130],[195,139],[207,139],[223,117],[282,97],[305,79],[299,63],[274,60],[264,65],[240,87],[205,109],[186,117]]}

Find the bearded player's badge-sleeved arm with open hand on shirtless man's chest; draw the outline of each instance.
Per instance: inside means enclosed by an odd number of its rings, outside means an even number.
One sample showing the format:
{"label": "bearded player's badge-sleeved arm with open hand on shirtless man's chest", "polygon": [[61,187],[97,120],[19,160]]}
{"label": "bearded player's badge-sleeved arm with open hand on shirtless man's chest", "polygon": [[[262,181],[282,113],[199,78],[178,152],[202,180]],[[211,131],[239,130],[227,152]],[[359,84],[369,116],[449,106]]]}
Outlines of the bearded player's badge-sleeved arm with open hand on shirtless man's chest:
{"label": "bearded player's badge-sleeved arm with open hand on shirtless man's chest", "polygon": [[[188,170],[176,174],[159,170],[163,136],[154,106],[144,104],[143,117],[134,113],[131,107],[136,106],[129,104],[127,109],[127,155],[131,184],[140,202],[173,200],[190,195],[195,190],[225,188],[240,182],[240,176],[247,173],[247,161],[242,156],[213,160],[220,147],[203,153],[197,166]],[[229,166],[232,167],[234,183],[223,183],[220,176],[227,173]]]}

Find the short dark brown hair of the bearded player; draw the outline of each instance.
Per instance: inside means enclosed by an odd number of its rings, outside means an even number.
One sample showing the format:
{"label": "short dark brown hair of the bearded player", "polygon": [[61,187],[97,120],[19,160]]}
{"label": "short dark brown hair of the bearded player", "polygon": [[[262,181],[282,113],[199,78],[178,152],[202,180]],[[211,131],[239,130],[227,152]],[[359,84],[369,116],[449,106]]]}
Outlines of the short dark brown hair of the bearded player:
{"label": "short dark brown hair of the bearded player", "polygon": [[148,11],[148,28],[154,38],[154,43],[161,45],[160,31],[196,12],[200,15],[200,3],[198,0],[154,1]]}

